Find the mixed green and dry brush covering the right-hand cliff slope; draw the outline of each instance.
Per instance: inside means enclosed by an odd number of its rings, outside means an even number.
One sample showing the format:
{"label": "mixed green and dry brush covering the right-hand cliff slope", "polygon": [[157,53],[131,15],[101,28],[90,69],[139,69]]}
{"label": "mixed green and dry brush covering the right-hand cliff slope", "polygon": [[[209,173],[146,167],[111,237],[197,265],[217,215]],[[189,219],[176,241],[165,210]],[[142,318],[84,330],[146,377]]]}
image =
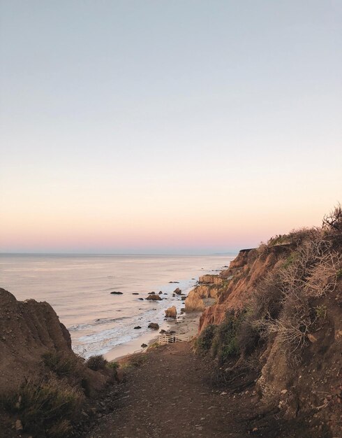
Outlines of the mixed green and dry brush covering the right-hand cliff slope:
{"label": "mixed green and dry brush covering the right-hand cliff slope", "polygon": [[327,306],[318,305],[318,299],[332,293],[342,278],[341,206],[325,216],[321,229],[298,229],[262,243],[259,257],[283,244],[289,245],[290,254],[284,251],[287,257],[255,286],[250,309],[228,312],[223,323],[206,327],[196,344],[199,353],[210,353],[220,366],[230,358],[246,363],[276,337],[289,358],[301,358],[308,334],[327,318]]}

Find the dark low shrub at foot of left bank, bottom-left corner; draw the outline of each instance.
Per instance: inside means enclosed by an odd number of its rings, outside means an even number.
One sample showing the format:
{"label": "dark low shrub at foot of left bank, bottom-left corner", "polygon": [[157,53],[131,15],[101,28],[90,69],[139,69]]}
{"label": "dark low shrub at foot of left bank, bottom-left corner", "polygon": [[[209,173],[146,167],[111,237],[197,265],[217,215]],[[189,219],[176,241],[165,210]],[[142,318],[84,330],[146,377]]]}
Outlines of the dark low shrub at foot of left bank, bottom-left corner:
{"label": "dark low shrub at foot of left bank, bottom-left corner", "polygon": [[66,436],[70,421],[79,410],[84,395],[64,379],[26,381],[14,395],[6,397],[5,407],[17,414],[25,432],[39,437]]}

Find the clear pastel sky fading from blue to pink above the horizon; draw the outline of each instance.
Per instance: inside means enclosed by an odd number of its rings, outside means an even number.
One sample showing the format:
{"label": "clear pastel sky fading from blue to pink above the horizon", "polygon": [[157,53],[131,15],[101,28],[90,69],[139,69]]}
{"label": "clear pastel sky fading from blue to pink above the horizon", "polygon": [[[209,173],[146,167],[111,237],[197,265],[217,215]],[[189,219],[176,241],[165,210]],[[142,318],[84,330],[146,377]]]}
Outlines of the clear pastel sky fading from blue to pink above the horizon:
{"label": "clear pastel sky fading from blue to pink above the horizon", "polygon": [[342,202],[341,1],[0,17],[0,252],[235,252]]}

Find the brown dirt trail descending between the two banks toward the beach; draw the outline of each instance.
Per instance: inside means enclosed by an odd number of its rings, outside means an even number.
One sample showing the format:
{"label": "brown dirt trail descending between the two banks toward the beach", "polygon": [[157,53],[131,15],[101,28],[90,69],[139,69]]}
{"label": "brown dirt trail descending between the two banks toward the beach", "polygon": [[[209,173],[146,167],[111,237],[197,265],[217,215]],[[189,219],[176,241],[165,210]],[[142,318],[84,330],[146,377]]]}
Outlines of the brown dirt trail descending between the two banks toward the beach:
{"label": "brown dirt trail descending between the two banks toward the beach", "polygon": [[213,388],[209,362],[189,344],[156,348],[143,359],[128,372],[112,413],[88,438],[306,436],[281,423],[274,411],[260,413],[253,388]]}

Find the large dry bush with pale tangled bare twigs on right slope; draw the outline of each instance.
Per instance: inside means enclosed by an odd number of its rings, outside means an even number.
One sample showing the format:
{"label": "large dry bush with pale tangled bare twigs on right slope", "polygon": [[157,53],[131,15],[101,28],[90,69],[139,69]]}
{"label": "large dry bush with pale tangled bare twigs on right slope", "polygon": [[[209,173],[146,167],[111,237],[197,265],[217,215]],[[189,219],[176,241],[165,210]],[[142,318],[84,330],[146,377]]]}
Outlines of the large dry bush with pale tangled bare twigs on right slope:
{"label": "large dry bush with pale tangled bare twigs on right slope", "polygon": [[319,230],[306,230],[304,234],[291,260],[282,269],[274,269],[254,297],[253,324],[260,336],[276,334],[291,353],[306,344],[307,334],[317,319],[310,302],[334,291],[342,261],[332,249],[333,242],[322,239]]}

